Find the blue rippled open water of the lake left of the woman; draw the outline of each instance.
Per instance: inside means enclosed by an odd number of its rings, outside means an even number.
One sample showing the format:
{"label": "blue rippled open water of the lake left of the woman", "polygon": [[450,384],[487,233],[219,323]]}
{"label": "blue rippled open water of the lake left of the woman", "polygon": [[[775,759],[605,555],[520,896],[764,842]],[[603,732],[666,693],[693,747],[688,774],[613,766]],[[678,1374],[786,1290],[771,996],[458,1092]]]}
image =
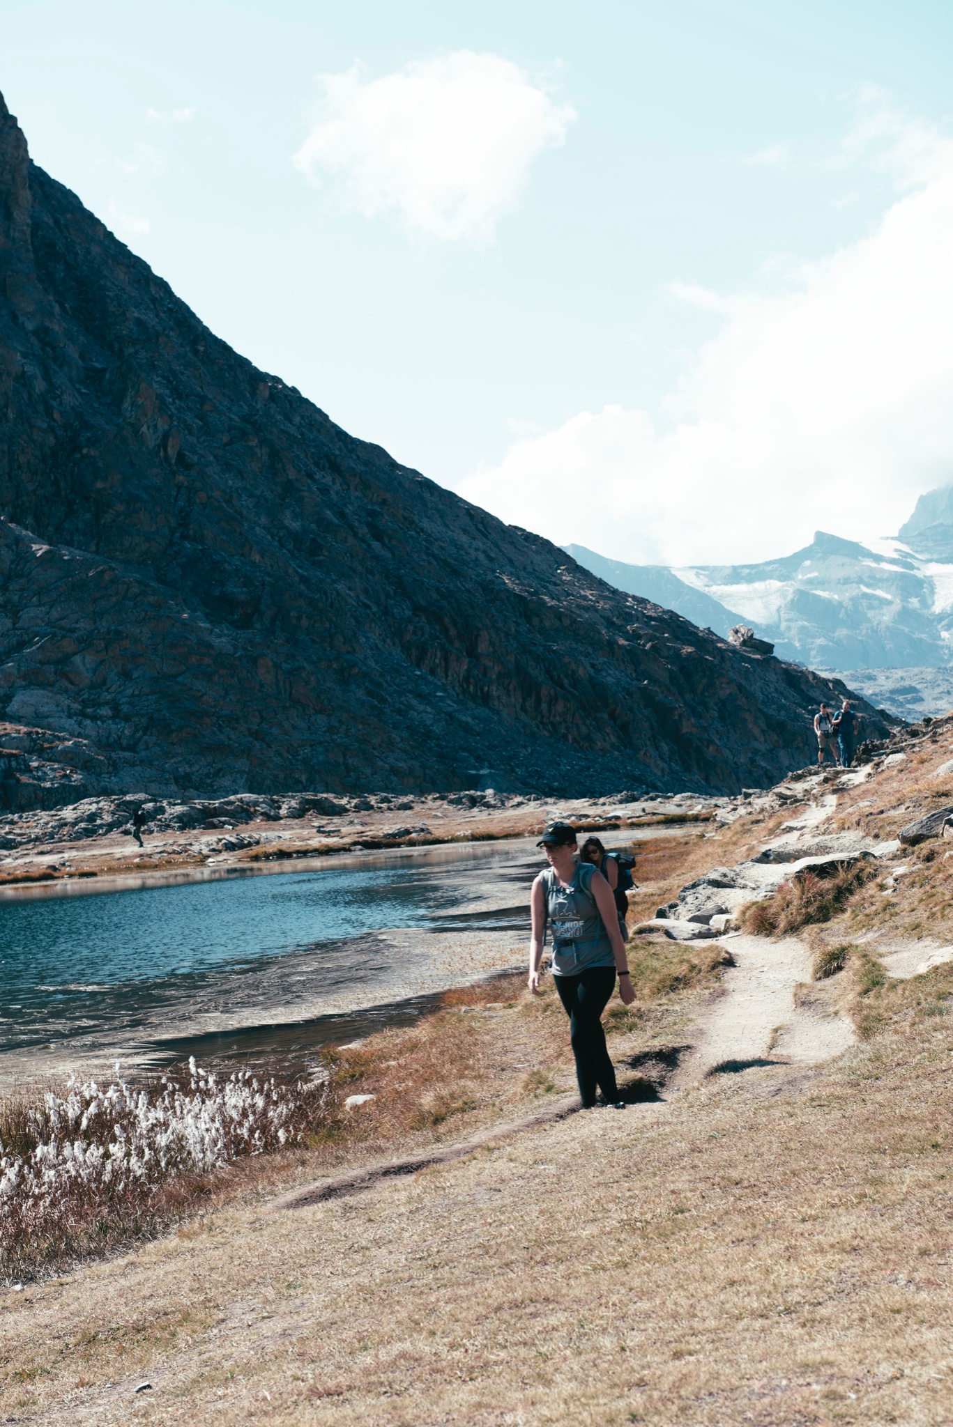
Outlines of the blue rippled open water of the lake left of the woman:
{"label": "blue rippled open water of the lake left of the woman", "polygon": [[[526,843],[446,858],[374,859],[311,872],[0,906],[0,1050],[227,1010],[276,959],[309,953],[311,987],[373,986],[384,928],[529,928],[539,870]],[[303,968],[304,970],[304,968]],[[304,976],[300,977],[301,980]],[[264,1016],[267,1019],[267,1013]]]}

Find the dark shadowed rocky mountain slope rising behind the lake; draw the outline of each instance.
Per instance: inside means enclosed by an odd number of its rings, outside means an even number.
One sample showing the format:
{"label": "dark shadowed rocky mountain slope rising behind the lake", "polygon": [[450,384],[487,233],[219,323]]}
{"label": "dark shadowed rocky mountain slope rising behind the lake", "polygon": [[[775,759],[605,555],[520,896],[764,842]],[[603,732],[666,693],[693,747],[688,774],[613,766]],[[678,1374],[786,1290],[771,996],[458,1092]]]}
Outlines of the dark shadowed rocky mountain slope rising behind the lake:
{"label": "dark shadowed rocky mountain slope rising behind the lake", "polygon": [[736,791],[810,755],[827,682],[349,437],[37,168],[3,100],[0,278],[0,715],[84,791]]}

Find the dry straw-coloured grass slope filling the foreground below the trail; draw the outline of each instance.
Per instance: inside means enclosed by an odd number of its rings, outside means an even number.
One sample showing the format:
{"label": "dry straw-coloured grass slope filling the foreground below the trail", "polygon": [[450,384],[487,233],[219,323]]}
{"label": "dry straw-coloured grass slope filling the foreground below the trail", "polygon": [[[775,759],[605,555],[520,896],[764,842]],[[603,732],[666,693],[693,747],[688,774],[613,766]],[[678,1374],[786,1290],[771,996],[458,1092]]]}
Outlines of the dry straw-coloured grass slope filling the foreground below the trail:
{"label": "dry straw-coloured grass slope filling the foreground below the trail", "polygon": [[866,992],[903,1006],[822,1075],[719,1076],[350,1200],[236,1206],[0,1300],[0,1408],[96,1427],[940,1427],[953,1142],[929,1007],[953,970],[922,980],[914,1019],[910,990]]}

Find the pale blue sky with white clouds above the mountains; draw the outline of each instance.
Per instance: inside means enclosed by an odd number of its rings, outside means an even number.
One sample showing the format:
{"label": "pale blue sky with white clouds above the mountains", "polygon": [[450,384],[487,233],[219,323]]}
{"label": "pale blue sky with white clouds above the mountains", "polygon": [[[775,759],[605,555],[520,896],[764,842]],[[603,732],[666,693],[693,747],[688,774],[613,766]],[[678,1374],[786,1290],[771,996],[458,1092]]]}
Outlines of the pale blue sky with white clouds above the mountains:
{"label": "pale blue sky with white clouds above the mountains", "polygon": [[949,4],[0,16],[37,163],[253,361],[507,519],[766,558],[953,478]]}

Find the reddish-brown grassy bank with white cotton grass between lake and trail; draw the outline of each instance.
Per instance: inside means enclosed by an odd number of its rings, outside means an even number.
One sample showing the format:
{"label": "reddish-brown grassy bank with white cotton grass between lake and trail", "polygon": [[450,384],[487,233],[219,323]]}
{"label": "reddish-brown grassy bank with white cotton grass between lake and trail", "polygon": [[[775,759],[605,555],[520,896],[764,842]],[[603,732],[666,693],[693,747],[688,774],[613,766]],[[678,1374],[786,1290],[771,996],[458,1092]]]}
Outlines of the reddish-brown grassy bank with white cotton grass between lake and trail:
{"label": "reddish-brown grassy bank with white cotton grass between lake and trail", "polygon": [[[712,949],[639,948],[639,1000],[607,1016],[616,1053],[670,1039],[722,959]],[[211,1073],[193,1062],[144,1085],[114,1079],[10,1097],[0,1103],[3,1281],[154,1239],[264,1184],[460,1139],[573,1089],[552,977],[532,997],[519,975],[447,992],[411,1029],[329,1049],[317,1080]],[[349,1106],[351,1096],[371,1099]]]}

